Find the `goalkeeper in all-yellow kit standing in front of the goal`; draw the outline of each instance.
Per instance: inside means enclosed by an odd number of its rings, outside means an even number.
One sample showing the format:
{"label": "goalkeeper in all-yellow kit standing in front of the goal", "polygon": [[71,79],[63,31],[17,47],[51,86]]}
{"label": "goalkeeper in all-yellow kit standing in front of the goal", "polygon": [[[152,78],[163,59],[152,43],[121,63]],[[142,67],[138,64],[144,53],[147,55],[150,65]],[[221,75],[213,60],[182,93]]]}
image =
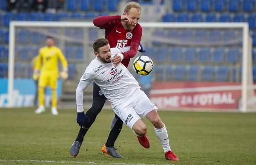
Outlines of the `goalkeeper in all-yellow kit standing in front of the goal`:
{"label": "goalkeeper in all-yellow kit standing in front of the goal", "polygon": [[35,110],[36,114],[44,113],[44,90],[49,86],[52,93],[52,114],[58,115],[57,111],[57,80],[59,78],[58,61],[61,61],[63,71],[60,72],[62,79],[68,78],[68,62],[61,50],[54,46],[54,39],[51,36],[46,37],[46,46],[42,47],[38,53],[38,59],[33,79],[38,79],[38,99],[39,107]]}

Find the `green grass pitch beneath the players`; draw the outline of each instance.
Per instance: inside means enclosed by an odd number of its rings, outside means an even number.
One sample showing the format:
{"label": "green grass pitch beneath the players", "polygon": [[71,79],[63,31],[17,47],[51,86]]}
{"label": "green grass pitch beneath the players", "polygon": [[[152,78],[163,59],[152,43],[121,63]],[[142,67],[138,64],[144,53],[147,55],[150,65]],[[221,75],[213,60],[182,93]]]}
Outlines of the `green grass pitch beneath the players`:
{"label": "green grass pitch beneath the players", "polygon": [[69,148],[79,130],[76,109],[0,108],[0,164],[5,165],[256,165],[256,113],[159,111],[178,162],[165,160],[160,141],[146,119],[150,148],[144,149],[126,126],[115,145],[123,159],[101,152],[114,112],[103,109],[85,136],[79,155]]}

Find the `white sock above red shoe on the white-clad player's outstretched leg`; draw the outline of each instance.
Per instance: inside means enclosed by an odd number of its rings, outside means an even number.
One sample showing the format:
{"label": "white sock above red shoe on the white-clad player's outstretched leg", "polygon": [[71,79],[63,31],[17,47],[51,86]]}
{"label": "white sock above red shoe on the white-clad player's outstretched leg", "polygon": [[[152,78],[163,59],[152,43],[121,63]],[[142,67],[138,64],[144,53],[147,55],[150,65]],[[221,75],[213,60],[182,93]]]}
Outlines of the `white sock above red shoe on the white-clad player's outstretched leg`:
{"label": "white sock above red shoe on the white-clad player's outstretched leg", "polygon": [[171,147],[170,147],[170,144],[169,144],[168,133],[167,133],[167,130],[165,128],[165,125],[161,129],[157,129],[157,128],[154,128],[154,129],[155,129],[155,134],[158,137],[158,139],[160,140],[164,151],[165,152],[171,151]]}

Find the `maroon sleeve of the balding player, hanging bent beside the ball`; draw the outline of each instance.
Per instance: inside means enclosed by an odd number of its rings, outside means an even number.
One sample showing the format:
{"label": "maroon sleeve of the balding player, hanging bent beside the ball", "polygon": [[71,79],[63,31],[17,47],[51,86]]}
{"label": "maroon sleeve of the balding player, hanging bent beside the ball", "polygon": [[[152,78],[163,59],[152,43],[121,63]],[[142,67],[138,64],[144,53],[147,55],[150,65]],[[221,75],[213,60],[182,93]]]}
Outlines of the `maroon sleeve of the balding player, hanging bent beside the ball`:
{"label": "maroon sleeve of the balding player, hanging bent beside the ball", "polygon": [[134,33],[133,33],[133,38],[131,41],[131,47],[130,50],[128,52],[123,52],[123,59],[130,59],[135,57],[136,53],[138,52],[138,48],[139,48],[139,43],[141,40],[141,36],[142,36],[142,27],[137,24],[137,28],[134,29]]}

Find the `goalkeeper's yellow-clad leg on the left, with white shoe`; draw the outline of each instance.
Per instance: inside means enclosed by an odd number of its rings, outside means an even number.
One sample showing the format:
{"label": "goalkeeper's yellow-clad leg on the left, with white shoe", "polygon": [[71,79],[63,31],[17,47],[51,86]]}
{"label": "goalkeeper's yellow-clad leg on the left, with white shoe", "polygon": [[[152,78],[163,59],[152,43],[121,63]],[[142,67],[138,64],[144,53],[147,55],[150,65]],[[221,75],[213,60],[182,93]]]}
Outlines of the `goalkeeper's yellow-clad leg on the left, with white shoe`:
{"label": "goalkeeper's yellow-clad leg on the left, with white shoe", "polygon": [[38,100],[39,100],[39,107],[37,110],[35,110],[36,114],[44,113],[45,112],[45,107],[44,107],[44,90],[45,87],[48,84],[48,76],[44,74],[44,72],[41,72],[41,75],[38,80]]}

